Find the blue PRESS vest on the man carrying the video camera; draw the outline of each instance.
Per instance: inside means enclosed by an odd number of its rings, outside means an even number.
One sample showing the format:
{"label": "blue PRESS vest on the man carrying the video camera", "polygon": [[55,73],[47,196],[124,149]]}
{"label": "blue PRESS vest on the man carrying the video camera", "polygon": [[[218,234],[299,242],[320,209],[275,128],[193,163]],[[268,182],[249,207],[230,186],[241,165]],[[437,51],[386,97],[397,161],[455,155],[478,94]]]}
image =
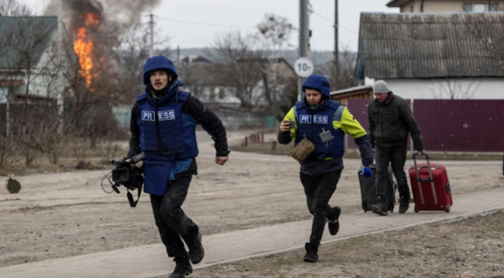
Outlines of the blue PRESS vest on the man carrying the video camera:
{"label": "blue PRESS vest on the man carrying the video camera", "polygon": [[137,122],[140,152],[145,152],[147,160],[173,161],[193,158],[198,154],[195,125],[188,124],[187,116],[181,113],[189,93],[175,92],[176,97],[163,98],[158,102],[147,93],[136,98],[140,107]]}

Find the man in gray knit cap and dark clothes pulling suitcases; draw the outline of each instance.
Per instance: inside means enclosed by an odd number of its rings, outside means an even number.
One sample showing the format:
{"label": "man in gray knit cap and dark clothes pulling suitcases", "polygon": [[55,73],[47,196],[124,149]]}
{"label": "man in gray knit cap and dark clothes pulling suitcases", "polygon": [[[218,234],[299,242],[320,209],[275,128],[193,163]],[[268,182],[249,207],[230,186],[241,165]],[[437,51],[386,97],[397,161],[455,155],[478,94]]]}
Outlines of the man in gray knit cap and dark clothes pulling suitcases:
{"label": "man in gray knit cap and dark clothes pulling suitcases", "polygon": [[373,213],[387,215],[387,167],[392,165],[399,190],[399,213],[405,213],[409,207],[409,187],[404,170],[407,154],[408,133],[413,145],[423,154],[423,140],[420,126],[415,120],[409,104],[389,90],[385,81],[376,81],[373,85],[373,99],[368,106],[368,135],[375,149],[376,196],[377,204],[371,206]]}

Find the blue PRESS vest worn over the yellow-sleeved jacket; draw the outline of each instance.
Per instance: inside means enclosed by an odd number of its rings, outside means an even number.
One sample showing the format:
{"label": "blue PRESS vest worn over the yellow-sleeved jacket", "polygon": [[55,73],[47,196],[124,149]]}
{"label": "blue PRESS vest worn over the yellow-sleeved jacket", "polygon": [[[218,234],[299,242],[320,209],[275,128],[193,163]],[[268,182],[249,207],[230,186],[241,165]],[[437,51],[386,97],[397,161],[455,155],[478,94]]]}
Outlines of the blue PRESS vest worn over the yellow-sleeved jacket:
{"label": "blue PRESS vest worn over the yellow-sleeved jacket", "polygon": [[[295,104],[294,114],[296,124],[299,129],[296,133],[294,145],[298,145],[304,135],[314,143],[315,149],[307,159],[324,159],[341,157],[345,153],[343,147],[344,132],[341,129],[334,129],[333,121],[341,121],[343,109],[338,101],[330,100],[325,106],[313,111],[304,105],[304,101],[298,101]],[[320,133],[330,131],[332,140],[322,142]]]}

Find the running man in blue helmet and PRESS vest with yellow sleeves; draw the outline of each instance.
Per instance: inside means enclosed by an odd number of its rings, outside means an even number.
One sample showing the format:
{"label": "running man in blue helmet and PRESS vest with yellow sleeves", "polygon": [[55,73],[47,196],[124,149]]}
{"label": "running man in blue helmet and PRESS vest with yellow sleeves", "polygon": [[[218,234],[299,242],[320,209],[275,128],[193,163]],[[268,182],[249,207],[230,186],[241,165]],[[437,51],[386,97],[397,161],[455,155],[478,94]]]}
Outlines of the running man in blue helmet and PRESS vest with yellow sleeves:
{"label": "running man in blue helmet and PRESS vest with yellow sleeves", "polygon": [[[330,234],[339,231],[339,206],[330,206],[329,200],[336,190],[336,184],[343,170],[343,135],[350,134],[361,154],[362,164],[371,167],[373,148],[366,131],[350,114],[348,108],[331,99],[330,83],[325,76],[312,74],[302,85],[305,97],[288,111],[280,124],[277,138],[281,144],[294,140],[295,145],[304,137],[311,141],[315,149],[300,161],[300,179],[307,197],[307,206],[314,215],[309,243],[304,245],[304,261],[318,260],[318,246],[327,224]],[[291,127],[291,122],[295,126]],[[370,170],[371,171],[371,170]]]}

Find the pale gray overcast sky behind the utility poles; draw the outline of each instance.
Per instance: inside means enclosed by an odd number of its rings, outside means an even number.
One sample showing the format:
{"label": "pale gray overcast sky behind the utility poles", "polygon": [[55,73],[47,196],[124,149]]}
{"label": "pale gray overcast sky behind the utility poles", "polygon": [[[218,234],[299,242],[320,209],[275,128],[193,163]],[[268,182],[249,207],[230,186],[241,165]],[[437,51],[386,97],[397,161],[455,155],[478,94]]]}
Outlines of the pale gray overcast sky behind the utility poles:
{"label": "pale gray overcast sky behind the utility poles", "polygon": [[[40,14],[48,0],[18,0],[28,3]],[[65,1],[65,0],[63,0]],[[387,8],[389,0],[340,0],[339,47],[357,50],[359,15],[362,12],[398,13]],[[311,51],[334,50],[334,1],[311,0]],[[227,31],[257,32],[257,24],[266,13],[286,17],[299,26],[298,0],[162,0],[152,10],[156,30],[170,38],[170,47],[211,47],[216,35]],[[147,15],[148,13],[145,13]],[[147,18],[147,17],[145,17]],[[290,40],[291,49],[298,46],[298,31]]]}

